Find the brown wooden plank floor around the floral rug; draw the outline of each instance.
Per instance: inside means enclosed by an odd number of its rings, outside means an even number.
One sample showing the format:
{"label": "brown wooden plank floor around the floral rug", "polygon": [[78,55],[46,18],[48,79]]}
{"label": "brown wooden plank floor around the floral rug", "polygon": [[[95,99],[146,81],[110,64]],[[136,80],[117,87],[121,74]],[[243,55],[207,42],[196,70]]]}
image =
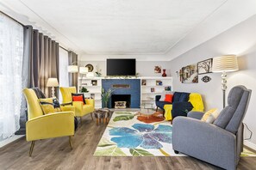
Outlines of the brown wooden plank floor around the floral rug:
{"label": "brown wooden plank floor around the floral rug", "polygon": [[[25,137],[0,149],[0,169],[220,169],[191,157],[96,157],[93,156],[106,125],[83,119],[70,149],[68,137],[35,142],[32,157]],[[238,169],[256,169],[256,158],[242,157]]]}

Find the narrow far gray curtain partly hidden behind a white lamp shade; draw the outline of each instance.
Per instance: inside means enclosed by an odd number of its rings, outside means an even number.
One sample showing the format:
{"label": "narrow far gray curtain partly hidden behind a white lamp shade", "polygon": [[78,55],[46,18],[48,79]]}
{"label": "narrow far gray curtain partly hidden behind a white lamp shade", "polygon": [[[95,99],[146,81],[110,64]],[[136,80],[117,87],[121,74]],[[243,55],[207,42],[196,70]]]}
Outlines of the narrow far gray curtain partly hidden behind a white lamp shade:
{"label": "narrow far gray curtain partly hidden behind a white lamp shade", "polygon": [[[68,52],[68,64],[78,65],[78,54]],[[78,87],[78,73],[69,73],[69,86]]]}

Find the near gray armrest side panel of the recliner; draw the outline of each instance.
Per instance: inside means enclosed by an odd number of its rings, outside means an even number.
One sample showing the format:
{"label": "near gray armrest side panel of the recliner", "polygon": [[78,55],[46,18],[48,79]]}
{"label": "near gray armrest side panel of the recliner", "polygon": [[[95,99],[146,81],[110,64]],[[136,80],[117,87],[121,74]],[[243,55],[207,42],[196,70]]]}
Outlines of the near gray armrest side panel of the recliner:
{"label": "near gray armrest side panel of the recliner", "polygon": [[235,141],[233,133],[215,124],[208,124],[195,118],[178,117],[173,120],[173,149],[216,166],[234,167]]}

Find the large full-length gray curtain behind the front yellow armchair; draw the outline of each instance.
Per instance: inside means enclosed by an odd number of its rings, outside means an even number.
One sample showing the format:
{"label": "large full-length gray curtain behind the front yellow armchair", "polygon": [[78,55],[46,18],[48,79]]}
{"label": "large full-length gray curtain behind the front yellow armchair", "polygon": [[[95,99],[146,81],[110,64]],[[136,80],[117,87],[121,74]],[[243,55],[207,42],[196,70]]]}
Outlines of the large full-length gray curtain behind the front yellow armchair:
{"label": "large full-length gray curtain behind the front yellow armchair", "polygon": [[[41,88],[47,97],[51,96],[51,89],[47,88],[48,78],[56,77],[59,81],[59,43],[31,26],[24,27],[22,77],[22,88]],[[59,96],[59,90],[56,88],[55,95]],[[16,134],[25,134],[27,119],[26,100],[23,97],[21,128]]]}

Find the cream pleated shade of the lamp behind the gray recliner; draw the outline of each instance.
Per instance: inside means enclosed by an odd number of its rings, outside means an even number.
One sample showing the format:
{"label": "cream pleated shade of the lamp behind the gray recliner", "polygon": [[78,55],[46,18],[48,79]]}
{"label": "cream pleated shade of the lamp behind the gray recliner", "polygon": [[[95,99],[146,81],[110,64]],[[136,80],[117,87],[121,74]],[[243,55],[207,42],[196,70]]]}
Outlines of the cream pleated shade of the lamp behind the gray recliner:
{"label": "cream pleated shade of the lamp behind the gray recliner", "polygon": [[230,72],[238,70],[237,57],[225,55],[213,58],[212,72]]}

